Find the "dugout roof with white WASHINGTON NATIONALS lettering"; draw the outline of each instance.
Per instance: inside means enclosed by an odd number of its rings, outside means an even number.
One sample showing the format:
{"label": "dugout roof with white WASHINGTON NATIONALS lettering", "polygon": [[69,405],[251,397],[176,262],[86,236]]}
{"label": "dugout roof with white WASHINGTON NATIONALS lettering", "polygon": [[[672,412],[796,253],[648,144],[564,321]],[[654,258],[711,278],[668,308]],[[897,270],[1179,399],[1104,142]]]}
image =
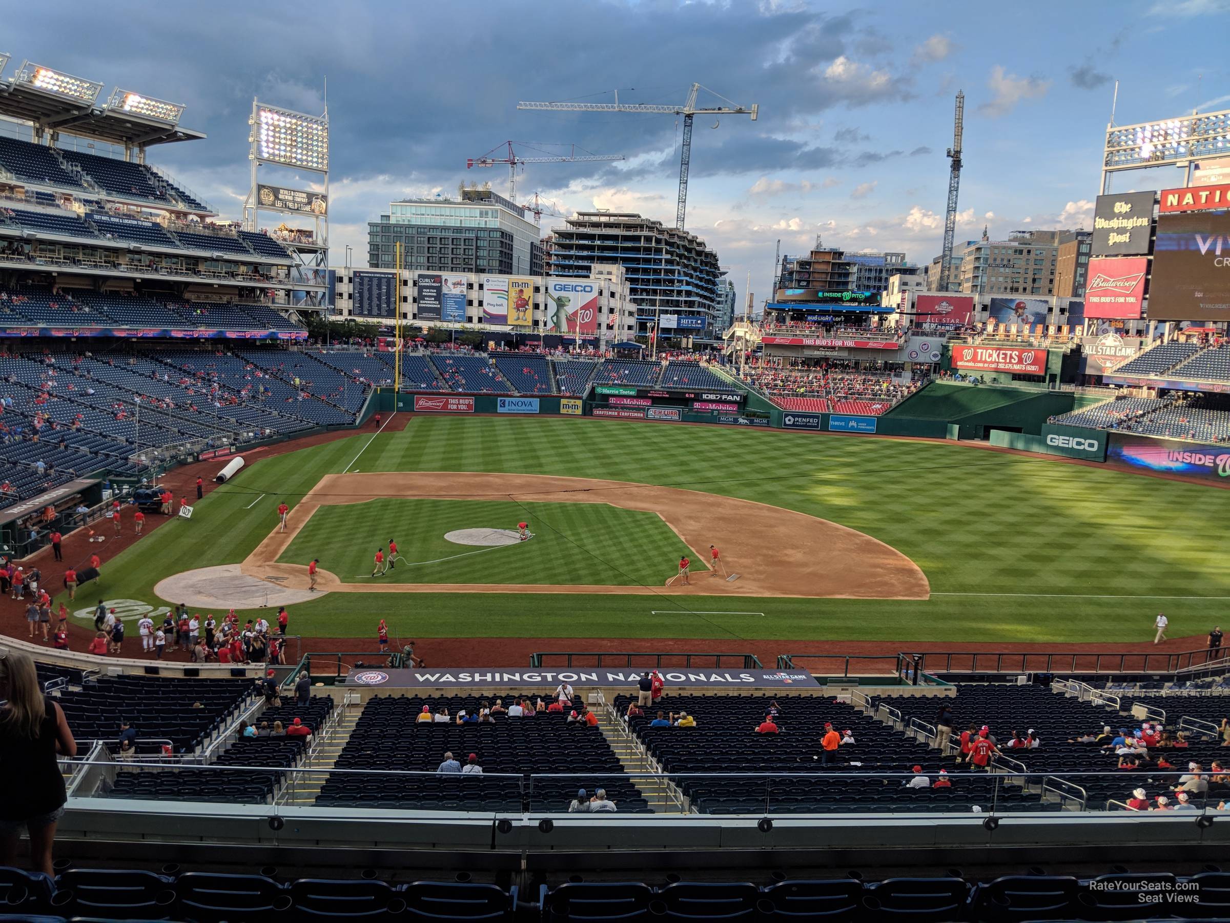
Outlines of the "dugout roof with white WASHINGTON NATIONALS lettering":
{"label": "dugout roof with white WASHINGTON NATIONALS lettering", "polygon": [[[347,685],[379,685],[401,689],[483,688],[491,685],[573,685],[627,687],[640,682],[648,671],[640,669],[352,669]],[[815,677],[801,669],[659,669],[668,687],[704,689],[727,685],[747,688],[818,687]]]}

